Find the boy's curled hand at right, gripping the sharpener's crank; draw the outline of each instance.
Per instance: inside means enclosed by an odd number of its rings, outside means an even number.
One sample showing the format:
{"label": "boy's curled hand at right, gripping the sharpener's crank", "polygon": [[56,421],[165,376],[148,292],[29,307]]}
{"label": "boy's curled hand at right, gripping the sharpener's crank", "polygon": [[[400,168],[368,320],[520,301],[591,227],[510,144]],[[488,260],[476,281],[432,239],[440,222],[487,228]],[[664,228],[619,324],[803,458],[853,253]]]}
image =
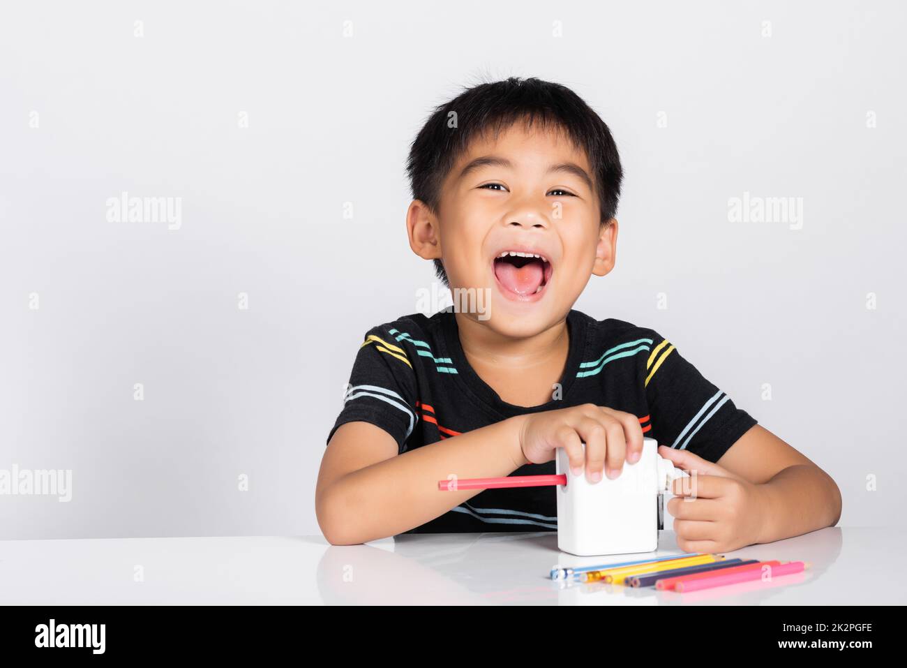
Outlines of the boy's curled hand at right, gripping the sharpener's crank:
{"label": "boy's curled hand at right, gripping the sharpener's crank", "polygon": [[[658,446],[658,454],[689,478],[673,482],[668,501],[684,552],[730,552],[759,542],[766,523],[764,489],[687,450]],[[694,471],[696,474],[694,475]]]}

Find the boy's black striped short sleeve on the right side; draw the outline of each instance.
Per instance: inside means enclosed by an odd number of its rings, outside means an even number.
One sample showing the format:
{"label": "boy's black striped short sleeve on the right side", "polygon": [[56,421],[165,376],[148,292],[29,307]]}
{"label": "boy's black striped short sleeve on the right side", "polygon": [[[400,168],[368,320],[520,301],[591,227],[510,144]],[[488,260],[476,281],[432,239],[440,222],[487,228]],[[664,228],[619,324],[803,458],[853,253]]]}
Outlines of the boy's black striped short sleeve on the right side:
{"label": "boy's black striped short sleeve on the right side", "polygon": [[658,445],[686,449],[717,462],[756,419],[737,408],[682,357],[678,349],[652,332],[652,350],[646,358],[645,392],[652,426],[647,436]]}

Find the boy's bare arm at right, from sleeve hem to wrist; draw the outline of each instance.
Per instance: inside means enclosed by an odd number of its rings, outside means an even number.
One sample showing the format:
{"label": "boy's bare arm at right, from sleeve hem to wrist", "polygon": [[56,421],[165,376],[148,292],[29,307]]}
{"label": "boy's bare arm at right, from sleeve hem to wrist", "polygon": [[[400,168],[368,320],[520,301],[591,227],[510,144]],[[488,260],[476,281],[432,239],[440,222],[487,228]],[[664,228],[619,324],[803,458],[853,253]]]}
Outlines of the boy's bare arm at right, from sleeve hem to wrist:
{"label": "boy's bare arm at right, from sleeve hem to wrist", "polygon": [[758,543],[834,526],[841,518],[834,479],[765,427],[752,427],[717,465],[763,491],[766,516]]}

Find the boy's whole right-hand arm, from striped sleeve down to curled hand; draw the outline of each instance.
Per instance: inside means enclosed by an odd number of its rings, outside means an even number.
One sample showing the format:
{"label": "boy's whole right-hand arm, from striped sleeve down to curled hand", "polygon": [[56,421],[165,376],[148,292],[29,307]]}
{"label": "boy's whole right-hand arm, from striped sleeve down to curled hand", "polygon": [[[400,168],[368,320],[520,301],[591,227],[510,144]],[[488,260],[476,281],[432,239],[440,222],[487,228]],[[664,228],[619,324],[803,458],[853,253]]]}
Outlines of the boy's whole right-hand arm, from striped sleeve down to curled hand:
{"label": "boy's whole right-hand arm, from striped sleeve down to curled hand", "polygon": [[650,436],[664,446],[662,457],[705,474],[686,490],[675,481],[676,495],[695,497],[668,502],[678,545],[723,552],[834,526],[841,516],[834,480],[737,408],[668,339],[649,336]]}

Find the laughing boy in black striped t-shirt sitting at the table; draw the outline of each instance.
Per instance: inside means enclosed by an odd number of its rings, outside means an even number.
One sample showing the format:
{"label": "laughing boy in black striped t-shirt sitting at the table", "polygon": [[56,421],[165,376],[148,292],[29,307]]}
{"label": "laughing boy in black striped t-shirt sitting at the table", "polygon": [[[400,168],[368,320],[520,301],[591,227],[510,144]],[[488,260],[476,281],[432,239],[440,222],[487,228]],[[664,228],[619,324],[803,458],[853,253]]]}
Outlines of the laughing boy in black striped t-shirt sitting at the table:
{"label": "laughing boy in black striped t-shirt sitting at the table", "polygon": [[632,465],[643,435],[697,471],[696,498],[668,504],[686,552],[834,526],[834,480],[668,339],[572,309],[614,267],[622,179],[607,125],[576,93],[514,77],[465,90],[425,123],[407,169],[410,246],[472,308],[366,332],[318,475],[330,543],[556,530],[553,487],[437,483],[551,474],[563,447],[594,484]]}

